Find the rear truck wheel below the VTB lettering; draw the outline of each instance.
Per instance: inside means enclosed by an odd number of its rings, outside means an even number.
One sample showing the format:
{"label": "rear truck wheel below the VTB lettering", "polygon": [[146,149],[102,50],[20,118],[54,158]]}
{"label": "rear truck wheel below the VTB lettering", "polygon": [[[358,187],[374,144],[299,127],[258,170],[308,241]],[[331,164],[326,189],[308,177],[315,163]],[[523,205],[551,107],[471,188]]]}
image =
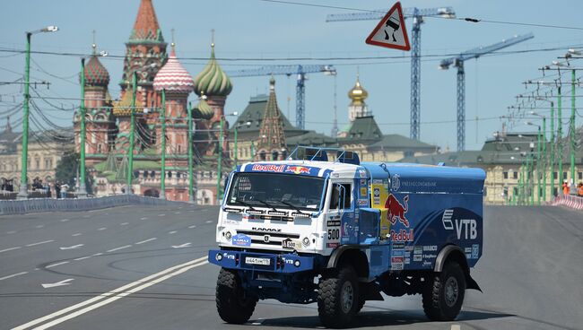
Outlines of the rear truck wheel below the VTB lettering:
{"label": "rear truck wheel below the VTB lettering", "polygon": [[457,317],[466,295],[466,276],[455,262],[430,277],[423,290],[423,310],[433,321],[451,321]]}

